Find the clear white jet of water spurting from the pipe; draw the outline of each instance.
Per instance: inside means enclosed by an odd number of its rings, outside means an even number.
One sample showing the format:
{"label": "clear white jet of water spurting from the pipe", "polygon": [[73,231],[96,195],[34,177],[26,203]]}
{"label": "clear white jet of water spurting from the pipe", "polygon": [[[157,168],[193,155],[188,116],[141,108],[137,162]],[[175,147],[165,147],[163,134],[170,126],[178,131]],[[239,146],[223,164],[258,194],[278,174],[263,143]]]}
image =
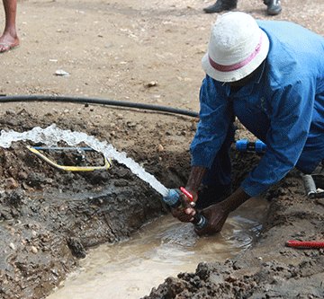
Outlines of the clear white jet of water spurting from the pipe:
{"label": "clear white jet of water spurting from the pipe", "polygon": [[15,132],[14,130],[9,130],[8,132],[2,130],[0,146],[8,148],[14,142],[26,140],[30,140],[34,143],[42,143],[47,146],[57,145],[59,141],[64,141],[70,146],[76,146],[84,142],[85,145],[88,145],[95,151],[102,153],[106,159],[112,159],[127,166],[130,171],[139,177],[139,179],[147,181],[148,184],[153,189],[156,189],[163,197],[168,193],[168,189],[166,189],[166,187],[153,175],[145,171],[139,163],[136,163],[134,160],[130,159],[130,157],[127,157],[126,153],[118,152],[112,145],[108,144],[106,141],[101,142],[94,136],[88,136],[82,132],[62,130],[57,128],[55,124],[52,124],[48,128],[35,127],[30,131],[23,133]]}

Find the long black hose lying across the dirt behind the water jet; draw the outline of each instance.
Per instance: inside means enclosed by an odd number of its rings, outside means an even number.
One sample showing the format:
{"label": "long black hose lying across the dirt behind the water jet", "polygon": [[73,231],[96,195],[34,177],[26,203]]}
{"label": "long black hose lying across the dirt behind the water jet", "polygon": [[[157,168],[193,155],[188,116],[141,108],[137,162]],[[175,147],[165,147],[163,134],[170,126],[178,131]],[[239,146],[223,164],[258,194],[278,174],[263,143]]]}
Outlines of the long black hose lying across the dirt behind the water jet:
{"label": "long black hose lying across the dirt behind the water jet", "polygon": [[17,95],[17,96],[1,96],[1,102],[13,102],[13,101],[64,101],[64,102],[76,102],[76,103],[92,103],[92,104],[103,104],[111,106],[130,107],[144,110],[156,110],[175,114],[182,114],[197,118],[198,112],[191,110],[182,110],[177,108],[157,106],[150,104],[143,104],[130,101],[114,101],[114,100],[102,100],[102,99],[91,99],[91,98],[79,98],[79,97],[67,97],[67,96],[56,96],[56,95]]}

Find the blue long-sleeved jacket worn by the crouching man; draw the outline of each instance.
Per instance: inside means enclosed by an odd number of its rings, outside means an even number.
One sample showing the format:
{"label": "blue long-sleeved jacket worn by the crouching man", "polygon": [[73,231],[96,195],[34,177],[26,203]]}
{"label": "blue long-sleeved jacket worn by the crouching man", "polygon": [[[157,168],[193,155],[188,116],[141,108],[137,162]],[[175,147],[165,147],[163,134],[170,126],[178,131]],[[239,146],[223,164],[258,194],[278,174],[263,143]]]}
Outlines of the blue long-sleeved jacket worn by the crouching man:
{"label": "blue long-sleeved jacket worn by the crouching man", "polygon": [[[292,22],[259,21],[270,48],[254,79],[234,94],[210,76],[202,82],[192,165],[211,167],[232,121],[233,106],[270,122],[266,152],[242,188],[257,197],[298,166],[311,173],[324,158],[324,38]],[[239,113],[236,113],[237,116]],[[238,116],[239,119],[239,116]],[[248,126],[246,126],[248,128]]]}

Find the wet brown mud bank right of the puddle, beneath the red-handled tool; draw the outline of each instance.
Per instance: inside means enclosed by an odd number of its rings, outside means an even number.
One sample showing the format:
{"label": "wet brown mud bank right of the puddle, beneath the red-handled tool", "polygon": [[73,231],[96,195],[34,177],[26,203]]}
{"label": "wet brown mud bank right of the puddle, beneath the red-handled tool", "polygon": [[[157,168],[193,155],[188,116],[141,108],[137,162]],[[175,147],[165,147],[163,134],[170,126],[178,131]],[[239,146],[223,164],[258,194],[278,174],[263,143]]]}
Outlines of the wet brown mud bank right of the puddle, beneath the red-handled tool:
{"label": "wet brown mud bank right of the puddle, beneath the red-handled tool", "polygon": [[304,195],[297,171],[265,196],[271,200],[266,224],[251,250],[167,277],[143,298],[323,298],[323,249],[284,246],[323,240],[323,199]]}

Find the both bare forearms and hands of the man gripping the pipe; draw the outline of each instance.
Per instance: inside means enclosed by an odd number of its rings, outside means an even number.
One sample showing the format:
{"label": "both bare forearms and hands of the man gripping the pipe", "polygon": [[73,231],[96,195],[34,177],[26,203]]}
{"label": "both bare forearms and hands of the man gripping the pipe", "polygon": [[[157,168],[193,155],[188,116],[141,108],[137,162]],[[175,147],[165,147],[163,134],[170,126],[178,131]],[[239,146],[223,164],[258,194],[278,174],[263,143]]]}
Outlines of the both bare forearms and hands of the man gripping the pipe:
{"label": "both bare forearms and hands of the man gripping the pipe", "polygon": [[[189,180],[185,189],[193,195],[193,201],[197,201],[198,188],[202,183],[203,175],[207,168],[201,166],[193,166],[190,173]],[[201,231],[196,231],[198,235],[219,233],[225,224],[229,213],[237,209],[240,205],[251,198],[241,187],[239,187],[229,198],[219,204],[207,207],[202,210],[202,215],[205,216],[207,223]],[[189,222],[193,220],[195,214],[194,209],[190,206],[190,200],[183,196],[183,208],[181,210],[173,211],[173,215],[182,222]]]}

